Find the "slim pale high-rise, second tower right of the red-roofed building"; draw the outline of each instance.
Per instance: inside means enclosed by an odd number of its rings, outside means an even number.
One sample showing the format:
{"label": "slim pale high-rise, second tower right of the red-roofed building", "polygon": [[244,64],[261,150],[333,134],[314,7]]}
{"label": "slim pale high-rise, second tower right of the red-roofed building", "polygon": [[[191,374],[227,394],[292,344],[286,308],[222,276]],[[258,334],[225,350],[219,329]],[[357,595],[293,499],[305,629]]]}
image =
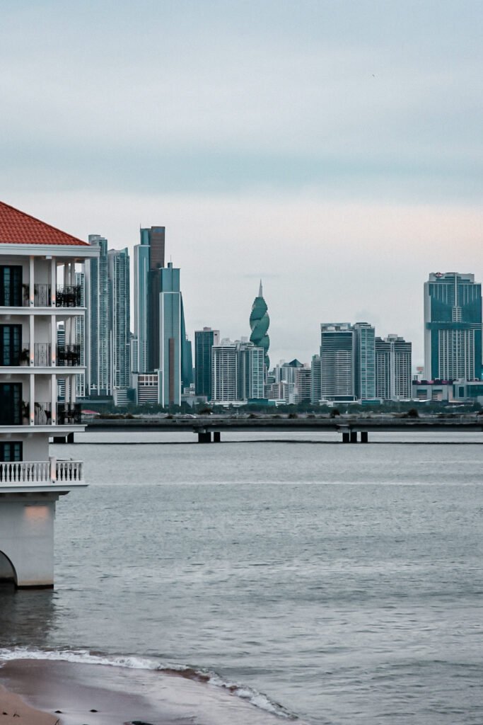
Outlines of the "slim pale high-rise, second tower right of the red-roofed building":
{"label": "slim pale high-rise, second tower right of the red-roofed building", "polygon": [[126,249],[109,249],[109,333],[112,389],[130,386],[130,260]]}

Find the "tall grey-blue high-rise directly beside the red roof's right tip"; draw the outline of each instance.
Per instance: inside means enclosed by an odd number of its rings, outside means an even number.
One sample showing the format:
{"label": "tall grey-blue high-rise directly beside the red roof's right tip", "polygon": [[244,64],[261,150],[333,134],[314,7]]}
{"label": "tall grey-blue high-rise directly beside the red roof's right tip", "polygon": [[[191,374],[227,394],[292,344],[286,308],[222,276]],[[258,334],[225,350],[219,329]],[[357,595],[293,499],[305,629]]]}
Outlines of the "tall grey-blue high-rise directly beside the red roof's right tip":
{"label": "tall grey-blue high-rise directly beside the red roof's right tip", "polygon": [[110,395],[109,360],[109,276],[107,264],[107,239],[89,234],[89,244],[98,249],[98,257],[86,265],[89,315],[89,365],[88,392],[90,395]]}

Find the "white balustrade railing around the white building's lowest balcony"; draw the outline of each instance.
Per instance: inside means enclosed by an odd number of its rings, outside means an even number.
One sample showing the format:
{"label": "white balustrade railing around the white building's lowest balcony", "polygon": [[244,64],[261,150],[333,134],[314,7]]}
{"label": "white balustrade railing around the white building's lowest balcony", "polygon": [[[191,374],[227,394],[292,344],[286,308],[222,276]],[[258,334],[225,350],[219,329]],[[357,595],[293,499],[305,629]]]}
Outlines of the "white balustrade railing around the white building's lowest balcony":
{"label": "white balustrade railing around the white building's lowest balcony", "polygon": [[80,484],[84,464],[81,460],[24,460],[0,463],[0,486],[28,484]]}

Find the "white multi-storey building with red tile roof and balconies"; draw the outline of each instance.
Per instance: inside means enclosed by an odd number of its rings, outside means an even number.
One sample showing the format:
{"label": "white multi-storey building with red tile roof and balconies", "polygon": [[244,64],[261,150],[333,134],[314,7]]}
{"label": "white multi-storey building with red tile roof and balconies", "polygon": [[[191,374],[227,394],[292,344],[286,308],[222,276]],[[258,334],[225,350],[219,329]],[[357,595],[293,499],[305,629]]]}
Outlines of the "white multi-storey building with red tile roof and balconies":
{"label": "white multi-storey building with red tile roof and balconies", "polygon": [[85,486],[81,461],[49,457],[49,436],[83,431],[75,319],[85,309],[75,273],[96,254],[0,202],[0,579],[17,587],[53,586],[55,504]]}

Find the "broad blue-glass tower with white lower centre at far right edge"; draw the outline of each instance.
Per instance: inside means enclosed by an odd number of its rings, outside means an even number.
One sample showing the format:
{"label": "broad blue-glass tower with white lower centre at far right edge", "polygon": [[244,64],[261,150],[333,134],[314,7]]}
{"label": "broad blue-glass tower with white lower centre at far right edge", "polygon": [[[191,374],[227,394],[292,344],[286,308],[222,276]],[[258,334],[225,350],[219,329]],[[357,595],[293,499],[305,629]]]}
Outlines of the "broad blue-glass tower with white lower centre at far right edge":
{"label": "broad blue-glass tower with white lower centre at far right edge", "polygon": [[431,273],[424,283],[427,380],[482,377],[482,286],[474,275]]}

